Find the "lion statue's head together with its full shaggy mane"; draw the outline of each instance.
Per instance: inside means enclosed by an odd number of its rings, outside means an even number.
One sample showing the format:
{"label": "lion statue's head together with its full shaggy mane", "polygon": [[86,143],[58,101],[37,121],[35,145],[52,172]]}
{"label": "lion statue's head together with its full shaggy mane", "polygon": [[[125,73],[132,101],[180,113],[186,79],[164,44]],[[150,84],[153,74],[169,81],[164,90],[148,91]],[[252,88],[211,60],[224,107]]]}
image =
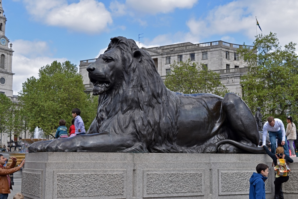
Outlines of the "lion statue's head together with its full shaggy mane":
{"label": "lion statue's head together with its full shaggy mane", "polygon": [[136,143],[142,143],[140,151],[160,151],[165,148],[161,145],[173,148],[179,103],[149,53],[132,39],[111,38],[108,49],[87,70],[93,94],[99,95],[97,125],[89,133],[130,132]]}

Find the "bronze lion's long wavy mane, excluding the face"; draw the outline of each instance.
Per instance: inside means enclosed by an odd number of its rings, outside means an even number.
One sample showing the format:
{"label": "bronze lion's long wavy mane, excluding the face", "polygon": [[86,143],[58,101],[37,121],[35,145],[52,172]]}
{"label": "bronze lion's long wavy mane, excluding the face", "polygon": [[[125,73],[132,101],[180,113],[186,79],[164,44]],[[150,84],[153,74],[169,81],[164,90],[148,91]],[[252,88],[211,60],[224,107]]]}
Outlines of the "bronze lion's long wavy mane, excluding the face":
{"label": "bronze lion's long wavy mane, excluding the face", "polygon": [[[175,144],[179,98],[134,40],[111,38],[105,52],[112,48],[122,53],[122,82],[99,96],[97,132],[135,132],[136,144],[122,152],[180,152]],[[135,50],[141,52],[140,62],[133,57]]]}

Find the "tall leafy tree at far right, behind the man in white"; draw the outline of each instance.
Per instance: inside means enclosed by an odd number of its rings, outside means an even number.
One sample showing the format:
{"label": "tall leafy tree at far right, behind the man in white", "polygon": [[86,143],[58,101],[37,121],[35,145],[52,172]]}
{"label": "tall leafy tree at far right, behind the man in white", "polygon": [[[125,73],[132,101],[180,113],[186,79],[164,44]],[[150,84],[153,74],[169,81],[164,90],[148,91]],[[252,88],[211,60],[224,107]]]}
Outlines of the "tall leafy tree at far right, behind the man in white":
{"label": "tall leafy tree at far right, behind the man in white", "polygon": [[240,57],[248,61],[248,74],[241,77],[243,100],[251,110],[261,107],[263,118],[273,116],[285,121],[286,114],[297,119],[298,68],[295,43],[282,48],[276,33],[260,34],[253,49],[243,45]]}

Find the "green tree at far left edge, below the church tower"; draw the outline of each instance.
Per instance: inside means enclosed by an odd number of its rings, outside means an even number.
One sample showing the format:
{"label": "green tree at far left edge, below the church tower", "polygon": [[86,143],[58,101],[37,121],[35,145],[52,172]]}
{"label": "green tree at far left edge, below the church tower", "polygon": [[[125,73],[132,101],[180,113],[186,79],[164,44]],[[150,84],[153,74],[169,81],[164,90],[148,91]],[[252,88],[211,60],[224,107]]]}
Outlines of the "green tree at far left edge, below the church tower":
{"label": "green tree at far left edge, below the church tower", "polygon": [[4,94],[0,94],[0,133],[1,133],[1,144],[4,143],[2,141],[2,133],[7,132],[7,126],[9,124],[9,120],[11,118],[11,108],[13,106],[12,101],[6,97]]}

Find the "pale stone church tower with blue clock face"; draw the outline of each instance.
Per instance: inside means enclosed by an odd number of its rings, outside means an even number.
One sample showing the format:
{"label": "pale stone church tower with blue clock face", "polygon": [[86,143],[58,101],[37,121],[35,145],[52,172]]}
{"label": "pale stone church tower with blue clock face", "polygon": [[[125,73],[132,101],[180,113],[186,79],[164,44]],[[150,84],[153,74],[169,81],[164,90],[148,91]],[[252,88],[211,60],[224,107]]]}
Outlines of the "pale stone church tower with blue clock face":
{"label": "pale stone church tower with blue clock face", "polygon": [[13,99],[12,44],[5,36],[6,17],[3,14],[2,0],[0,0],[0,93]]}

